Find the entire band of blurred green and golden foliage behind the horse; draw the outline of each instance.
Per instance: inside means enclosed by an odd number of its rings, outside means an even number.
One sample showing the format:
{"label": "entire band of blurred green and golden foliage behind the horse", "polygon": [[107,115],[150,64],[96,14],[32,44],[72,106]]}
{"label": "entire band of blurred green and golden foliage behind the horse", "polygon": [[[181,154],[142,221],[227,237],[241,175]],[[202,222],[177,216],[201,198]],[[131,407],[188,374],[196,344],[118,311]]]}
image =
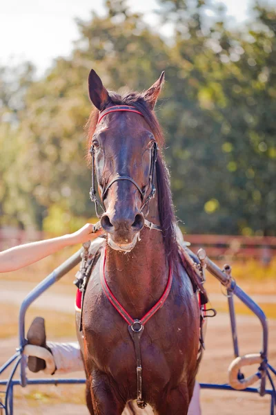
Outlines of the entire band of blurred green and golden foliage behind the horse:
{"label": "entire band of blurred green and golden foliage behind the horse", "polygon": [[276,233],[275,11],[256,7],[257,20],[238,33],[227,30],[223,10],[208,27],[205,1],[159,3],[160,21],[174,29],[168,42],[126,1],[107,1],[105,17],[78,22],[72,57],[39,82],[29,64],[15,81],[0,68],[1,223],[63,232],[65,217],[89,218],[90,68],[119,91],[147,89],[165,69],[157,116],[186,230]]}

